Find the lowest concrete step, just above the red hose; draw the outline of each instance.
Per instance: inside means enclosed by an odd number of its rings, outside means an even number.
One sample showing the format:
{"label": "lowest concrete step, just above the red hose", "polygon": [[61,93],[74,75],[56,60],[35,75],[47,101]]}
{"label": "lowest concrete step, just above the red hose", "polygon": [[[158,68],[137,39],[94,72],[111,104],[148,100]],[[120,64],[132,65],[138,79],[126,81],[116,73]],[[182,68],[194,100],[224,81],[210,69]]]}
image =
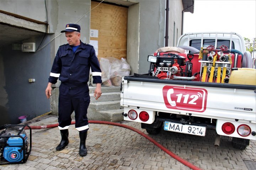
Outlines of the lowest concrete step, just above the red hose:
{"label": "lowest concrete step, just above the red hose", "polygon": [[122,113],[124,109],[115,109],[110,111],[100,111],[100,112],[92,112],[94,115],[87,114],[89,120],[101,120],[101,121],[111,121],[111,122],[120,122],[123,120]]}

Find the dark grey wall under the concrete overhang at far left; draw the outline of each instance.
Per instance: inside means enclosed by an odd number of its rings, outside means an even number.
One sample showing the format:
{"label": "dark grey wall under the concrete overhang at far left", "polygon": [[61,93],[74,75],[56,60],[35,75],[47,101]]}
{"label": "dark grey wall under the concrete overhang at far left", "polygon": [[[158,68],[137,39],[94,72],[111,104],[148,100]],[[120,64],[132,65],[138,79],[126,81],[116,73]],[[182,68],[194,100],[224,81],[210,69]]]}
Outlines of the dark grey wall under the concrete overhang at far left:
{"label": "dark grey wall under the concrete overhang at far left", "polygon": [[[39,44],[42,38],[35,38],[35,42]],[[0,125],[20,123],[18,117],[22,115],[30,120],[50,111],[44,92],[50,69],[46,56],[50,56],[49,47],[40,53],[12,50],[11,45],[0,49]],[[29,83],[31,78],[36,82]]]}

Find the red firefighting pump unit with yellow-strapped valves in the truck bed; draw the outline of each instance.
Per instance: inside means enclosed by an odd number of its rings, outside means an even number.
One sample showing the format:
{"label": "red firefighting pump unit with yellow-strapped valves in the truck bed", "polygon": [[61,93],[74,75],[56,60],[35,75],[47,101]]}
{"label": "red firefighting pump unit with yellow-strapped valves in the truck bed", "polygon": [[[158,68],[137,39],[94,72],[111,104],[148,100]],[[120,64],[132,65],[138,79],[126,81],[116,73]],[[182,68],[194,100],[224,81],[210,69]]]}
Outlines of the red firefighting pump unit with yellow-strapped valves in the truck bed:
{"label": "red firefighting pump unit with yellow-strapped valves in the truck bed", "polygon": [[148,56],[149,75],[159,79],[228,83],[232,68],[241,68],[241,55],[224,45],[202,47],[199,53],[155,52]]}

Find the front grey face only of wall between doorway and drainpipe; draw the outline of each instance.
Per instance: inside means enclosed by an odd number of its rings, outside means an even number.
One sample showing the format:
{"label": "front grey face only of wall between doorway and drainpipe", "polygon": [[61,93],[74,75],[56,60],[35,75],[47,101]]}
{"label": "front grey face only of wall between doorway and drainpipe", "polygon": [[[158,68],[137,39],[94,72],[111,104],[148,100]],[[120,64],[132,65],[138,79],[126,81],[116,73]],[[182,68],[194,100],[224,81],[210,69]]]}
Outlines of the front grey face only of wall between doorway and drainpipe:
{"label": "front grey face only of wall between doorway and drainpipe", "polygon": [[148,55],[164,46],[166,1],[139,1],[139,74],[148,73]]}

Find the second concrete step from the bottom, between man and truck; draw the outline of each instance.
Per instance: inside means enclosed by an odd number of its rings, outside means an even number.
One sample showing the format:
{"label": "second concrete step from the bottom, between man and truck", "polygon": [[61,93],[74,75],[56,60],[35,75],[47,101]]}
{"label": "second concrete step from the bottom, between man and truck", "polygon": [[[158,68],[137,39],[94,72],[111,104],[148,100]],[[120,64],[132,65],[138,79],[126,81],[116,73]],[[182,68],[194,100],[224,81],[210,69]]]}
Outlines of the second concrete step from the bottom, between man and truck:
{"label": "second concrete step from the bottom, between man and truck", "polygon": [[88,113],[122,109],[122,108],[123,108],[123,106],[120,106],[120,100],[107,101],[107,102],[94,102],[94,103],[90,103],[89,108],[88,108]]}

